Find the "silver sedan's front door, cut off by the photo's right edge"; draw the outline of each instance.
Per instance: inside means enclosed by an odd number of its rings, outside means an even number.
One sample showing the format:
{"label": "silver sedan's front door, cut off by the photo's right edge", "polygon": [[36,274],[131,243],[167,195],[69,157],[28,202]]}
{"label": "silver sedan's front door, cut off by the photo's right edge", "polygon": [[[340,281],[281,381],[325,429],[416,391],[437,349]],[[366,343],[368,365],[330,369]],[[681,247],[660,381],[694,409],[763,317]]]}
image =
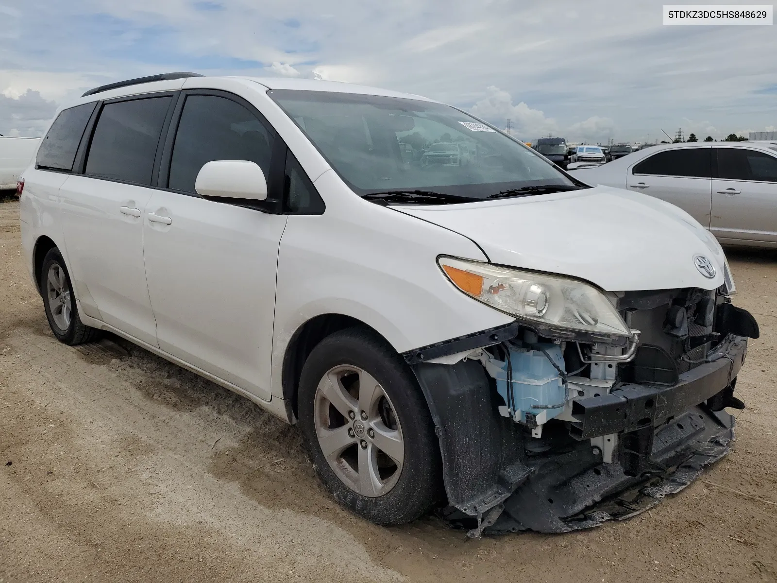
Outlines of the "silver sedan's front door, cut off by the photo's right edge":
{"label": "silver sedan's front door, cut off by the photo's right edge", "polygon": [[711,231],[720,239],[777,243],[777,155],[715,148]]}

